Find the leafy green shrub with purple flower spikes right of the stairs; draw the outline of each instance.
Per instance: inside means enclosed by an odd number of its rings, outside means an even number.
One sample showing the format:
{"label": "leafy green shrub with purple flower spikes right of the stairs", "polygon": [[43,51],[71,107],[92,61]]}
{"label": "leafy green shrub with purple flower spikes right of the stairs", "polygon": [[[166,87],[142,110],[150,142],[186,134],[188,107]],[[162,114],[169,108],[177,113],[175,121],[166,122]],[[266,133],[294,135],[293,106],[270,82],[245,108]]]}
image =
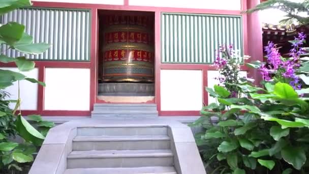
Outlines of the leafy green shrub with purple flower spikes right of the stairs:
{"label": "leafy green shrub with purple flower spikes right of the stairs", "polygon": [[[266,63],[249,64],[261,70],[264,88],[248,81],[226,82],[247,97],[232,97],[227,86],[206,88],[218,102],[203,107],[203,116],[191,126],[206,129],[196,134],[196,142],[209,173],[309,172],[309,98],[300,97],[309,88],[303,88],[299,76],[309,70],[300,58],[304,37],[300,34],[293,42],[290,59],[269,43]],[[215,66],[224,62],[217,61]]]}

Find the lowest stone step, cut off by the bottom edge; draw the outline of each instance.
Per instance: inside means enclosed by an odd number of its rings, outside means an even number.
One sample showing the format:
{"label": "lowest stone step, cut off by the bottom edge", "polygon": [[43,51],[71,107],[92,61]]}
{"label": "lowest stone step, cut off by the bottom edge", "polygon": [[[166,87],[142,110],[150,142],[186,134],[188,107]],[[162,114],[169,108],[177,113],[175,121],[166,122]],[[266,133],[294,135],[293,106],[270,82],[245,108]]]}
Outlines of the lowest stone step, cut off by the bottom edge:
{"label": "lowest stone step, cut off by the bottom edge", "polygon": [[64,174],[177,174],[174,167],[74,168]]}

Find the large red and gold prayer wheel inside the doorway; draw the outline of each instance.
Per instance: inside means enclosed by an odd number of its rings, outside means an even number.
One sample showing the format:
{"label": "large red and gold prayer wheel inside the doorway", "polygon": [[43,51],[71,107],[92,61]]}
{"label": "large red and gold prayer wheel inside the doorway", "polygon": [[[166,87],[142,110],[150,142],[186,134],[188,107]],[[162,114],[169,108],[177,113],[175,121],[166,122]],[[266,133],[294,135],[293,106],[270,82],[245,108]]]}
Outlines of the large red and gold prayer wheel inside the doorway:
{"label": "large red and gold prayer wheel inside the doorway", "polygon": [[153,81],[153,20],[105,16],[103,81]]}

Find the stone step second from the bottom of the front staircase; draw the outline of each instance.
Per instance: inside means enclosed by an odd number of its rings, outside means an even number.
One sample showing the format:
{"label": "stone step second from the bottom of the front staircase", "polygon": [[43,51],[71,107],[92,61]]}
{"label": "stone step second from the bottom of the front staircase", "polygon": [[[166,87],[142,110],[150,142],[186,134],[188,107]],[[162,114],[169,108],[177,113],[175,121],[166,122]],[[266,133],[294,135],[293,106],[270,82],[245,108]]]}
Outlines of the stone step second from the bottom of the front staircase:
{"label": "stone step second from the bottom of the front staircase", "polygon": [[67,168],[173,166],[171,150],[73,151]]}

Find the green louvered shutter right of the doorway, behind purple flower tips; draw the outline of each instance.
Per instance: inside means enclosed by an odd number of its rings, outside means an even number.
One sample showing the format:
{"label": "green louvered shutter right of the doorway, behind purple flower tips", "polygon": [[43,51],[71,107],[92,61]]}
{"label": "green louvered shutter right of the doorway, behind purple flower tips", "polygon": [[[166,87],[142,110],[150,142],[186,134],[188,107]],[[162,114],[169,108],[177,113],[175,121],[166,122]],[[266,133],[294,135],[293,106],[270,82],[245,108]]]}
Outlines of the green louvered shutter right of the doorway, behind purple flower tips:
{"label": "green louvered shutter right of the doorway, behind purple flower tips", "polygon": [[212,64],[221,44],[243,54],[242,17],[236,15],[163,13],[162,63]]}

